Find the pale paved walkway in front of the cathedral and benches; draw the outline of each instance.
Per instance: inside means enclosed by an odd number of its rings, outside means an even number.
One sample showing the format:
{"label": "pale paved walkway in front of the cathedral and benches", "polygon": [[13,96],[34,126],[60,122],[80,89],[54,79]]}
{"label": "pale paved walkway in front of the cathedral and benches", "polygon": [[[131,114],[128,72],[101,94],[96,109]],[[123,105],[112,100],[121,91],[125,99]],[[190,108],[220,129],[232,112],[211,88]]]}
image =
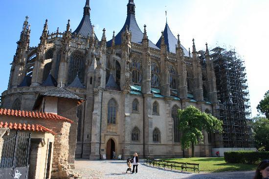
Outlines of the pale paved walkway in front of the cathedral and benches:
{"label": "pale paved walkway in front of the cathedral and benches", "polygon": [[252,179],[254,172],[221,172],[193,174],[151,167],[144,162],[137,174],[126,174],[127,165],[122,160],[76,160],[76,171],[82,179]]}

